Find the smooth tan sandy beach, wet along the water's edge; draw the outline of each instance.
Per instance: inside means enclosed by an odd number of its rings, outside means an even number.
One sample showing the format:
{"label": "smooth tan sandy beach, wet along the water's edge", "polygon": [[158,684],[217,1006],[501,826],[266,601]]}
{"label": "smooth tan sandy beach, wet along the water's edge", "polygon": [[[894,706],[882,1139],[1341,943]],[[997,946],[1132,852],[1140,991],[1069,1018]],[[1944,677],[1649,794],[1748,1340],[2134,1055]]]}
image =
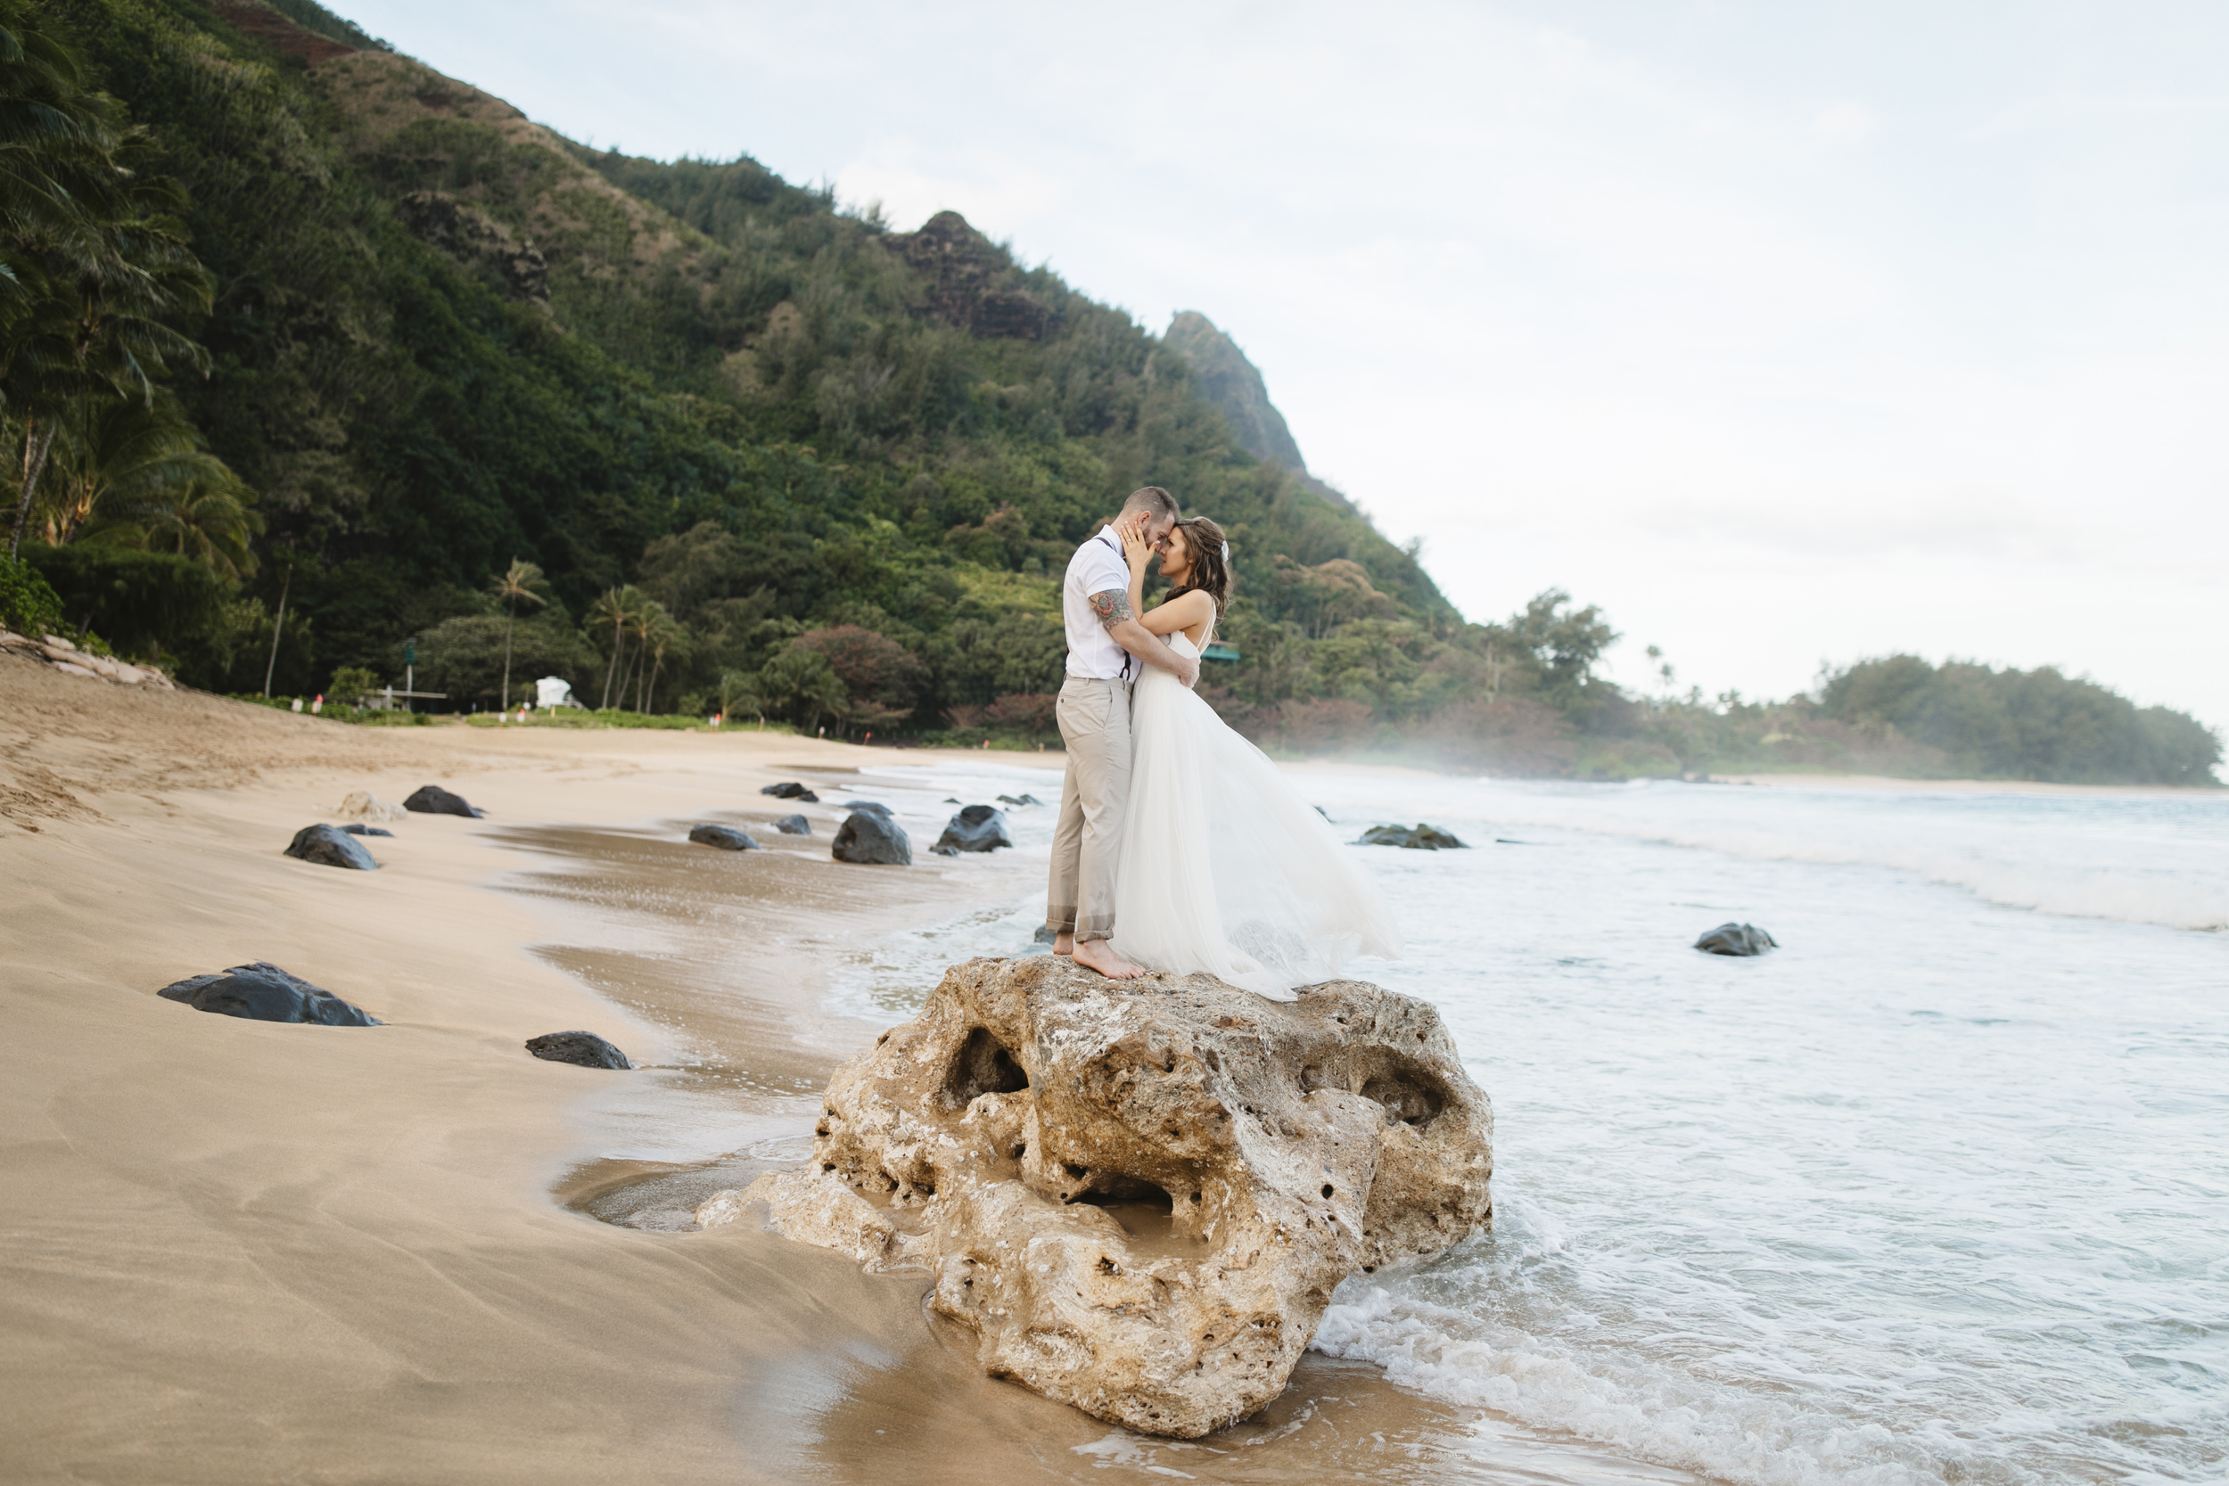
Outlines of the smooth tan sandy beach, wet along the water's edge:
{"label": "smooth tan sandy beach, wet along the water's edge", "polygon": [[[825,833],[680,842],[707,813],[771,818],[758,786],[796,766],[860,762],[894,755],[350,729],[0,659],[0,1477],[1672,1479],[1505,1444],[1317,1357],[1239,1430],[1132,1441],[981,1377],[923,1277],[559,1201],[635,1174],[593,1156],[644,1101],[727,1101],[798,1150],[811,1092],[874,1036],[823,1009],[831,958],[1028,891],[1028,862],[843,867]],[[424,782],[490,818],[412,815],[368,842],[379,873],[279,853],[350,789]],[[256,958],[388,1025],[154,996]],[[568,1027],[691,1067],[522,1047]]]}

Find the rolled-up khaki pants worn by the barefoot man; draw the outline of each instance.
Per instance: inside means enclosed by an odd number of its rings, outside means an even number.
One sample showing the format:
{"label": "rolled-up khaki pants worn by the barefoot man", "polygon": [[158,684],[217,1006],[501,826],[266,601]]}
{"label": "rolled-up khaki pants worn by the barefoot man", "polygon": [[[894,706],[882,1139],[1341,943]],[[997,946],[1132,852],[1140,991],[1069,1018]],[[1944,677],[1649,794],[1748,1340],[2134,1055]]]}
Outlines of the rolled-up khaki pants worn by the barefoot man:
{"label": "rolled-up khaki pants worn by the barefoot man", "polygon": [[1130,682],[1072,675],[1054,708],[1068,744],[1061,822],[1052,829],[1045,927],[1079,940],[1114,933],[1114,864],[1130,804]]}

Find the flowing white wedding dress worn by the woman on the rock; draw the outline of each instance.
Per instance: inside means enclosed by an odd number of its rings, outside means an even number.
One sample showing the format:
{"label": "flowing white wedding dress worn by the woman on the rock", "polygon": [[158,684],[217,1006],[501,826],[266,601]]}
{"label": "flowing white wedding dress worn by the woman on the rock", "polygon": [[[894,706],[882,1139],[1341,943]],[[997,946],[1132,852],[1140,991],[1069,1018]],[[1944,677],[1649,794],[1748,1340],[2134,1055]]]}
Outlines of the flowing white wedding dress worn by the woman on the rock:
{"label": "flowing white wedding dress worn by the woman on the rock", "polygon": [[[1177,633],[1172,651],[1197,657]],[[1130,700],[1130,804],[1114,869],[1114,951],[1208,971],[1271,1000],[1393,958],[1384,898],[1277,764],[1166,671]]]}

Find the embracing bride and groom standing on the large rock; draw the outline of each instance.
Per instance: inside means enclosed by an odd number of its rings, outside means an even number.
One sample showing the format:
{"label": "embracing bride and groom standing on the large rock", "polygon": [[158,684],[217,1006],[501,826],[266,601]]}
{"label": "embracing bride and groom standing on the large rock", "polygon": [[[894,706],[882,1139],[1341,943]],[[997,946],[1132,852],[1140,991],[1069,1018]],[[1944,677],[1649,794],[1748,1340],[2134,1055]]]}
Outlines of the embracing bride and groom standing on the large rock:
{"label": "embracing bride and groom standing on the large rock", "polygon": [[[1172,584],[1143,606],[1146,568]],[[1331,824],[1193,695],[1230,599],[1230,544],[1146,486],[1061,588],[1068,744],[1045,927],[1101,976],[1206,971],[1271,1000],[1395,956],[1393,918]]]}

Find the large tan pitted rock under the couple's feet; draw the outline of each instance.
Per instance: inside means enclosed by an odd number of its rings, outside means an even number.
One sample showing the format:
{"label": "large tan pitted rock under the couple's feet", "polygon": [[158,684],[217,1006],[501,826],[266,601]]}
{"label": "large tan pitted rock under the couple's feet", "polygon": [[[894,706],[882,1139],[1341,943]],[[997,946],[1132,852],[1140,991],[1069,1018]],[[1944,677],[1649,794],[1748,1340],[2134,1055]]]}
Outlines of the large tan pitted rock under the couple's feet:
{"label": "large tan pitted rock under the couple's feet", "polygon": [[932,1272],[990,1375],[1199,1437],[1284,1390],[1342,1279],[1491,1219],[1489,1141],[1422,1000],[967,960],[836,1072],[814,1165],[742,1199]]}

